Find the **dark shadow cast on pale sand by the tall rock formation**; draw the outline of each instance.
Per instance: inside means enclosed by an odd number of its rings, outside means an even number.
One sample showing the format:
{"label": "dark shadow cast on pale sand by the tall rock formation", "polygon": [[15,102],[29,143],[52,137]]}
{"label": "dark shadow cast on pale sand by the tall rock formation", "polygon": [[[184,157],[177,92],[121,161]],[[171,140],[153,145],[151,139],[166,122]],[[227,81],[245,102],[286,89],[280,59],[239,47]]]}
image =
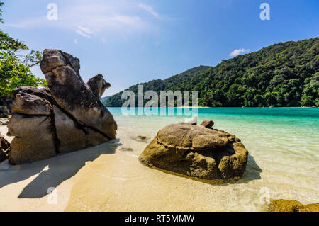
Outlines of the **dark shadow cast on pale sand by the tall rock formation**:
{"label": "dark shadow cast on pale sand by the tall rock formation", "polygon": [[47,195],[48,188],[56,188],[60,183],[77,174],[86,162],[94,161],[101,154],[114,154],[116,147],[120,145],[119,139],[116,139],[89,149],[63,154],[40,162],[11,166],[8,170],[0,170],[0,188],[38,174],[23,188],[18,198],[41,198]]}

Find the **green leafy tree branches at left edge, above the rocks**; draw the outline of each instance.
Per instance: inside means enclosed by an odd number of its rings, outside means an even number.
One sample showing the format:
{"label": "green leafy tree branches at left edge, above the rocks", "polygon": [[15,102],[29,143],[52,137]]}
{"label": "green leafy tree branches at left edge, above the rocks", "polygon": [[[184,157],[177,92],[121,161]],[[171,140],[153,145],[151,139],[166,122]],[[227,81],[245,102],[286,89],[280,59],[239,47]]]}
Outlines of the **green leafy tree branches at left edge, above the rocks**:
{"label": "green leafy tree branches at left edge, above the rocks", "polygon": [[[3,5],[0,2],[0,7]],[[35,77],[30,70],[40,63],[42,54],[28,50],[21,41],[0,30],[0,96],[11,96],[12,89],[18,86],[47,86],[45,79]]]}

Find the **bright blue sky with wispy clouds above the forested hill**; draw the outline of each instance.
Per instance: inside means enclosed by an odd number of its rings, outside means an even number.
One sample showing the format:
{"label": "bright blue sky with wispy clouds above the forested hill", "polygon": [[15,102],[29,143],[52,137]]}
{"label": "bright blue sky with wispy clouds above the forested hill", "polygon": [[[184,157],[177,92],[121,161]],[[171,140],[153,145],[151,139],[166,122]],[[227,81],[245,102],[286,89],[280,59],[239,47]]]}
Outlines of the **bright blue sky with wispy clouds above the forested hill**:
{"label": "bright blue sky with wispy clouds above the forested hill", "polygon": [[[274,43],[319,36],[318,0],[2,1],[1,30],[30,49],[78,57],[84,81],[101,73],[111,83],[103,96]],[[269,20],[260,18],[263,3]],[[44,78],[38,66],[32,71]]]}

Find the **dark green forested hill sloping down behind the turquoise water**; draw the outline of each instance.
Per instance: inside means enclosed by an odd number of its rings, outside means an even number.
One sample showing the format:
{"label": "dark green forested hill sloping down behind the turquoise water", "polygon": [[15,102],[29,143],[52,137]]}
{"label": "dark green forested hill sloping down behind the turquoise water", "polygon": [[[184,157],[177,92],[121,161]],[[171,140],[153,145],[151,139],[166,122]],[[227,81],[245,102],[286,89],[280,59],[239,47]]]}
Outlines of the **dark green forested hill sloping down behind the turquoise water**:
{"label": "dark green forested hill sloping down behind the turquoise water", "polygon": [[[144,83],[147,90],[196,90],[199,106],[319,105],[319,38],[286,42]],[[137,85],[128,88],[137,92]],[[122,92],[106,106],[120,107]]]}

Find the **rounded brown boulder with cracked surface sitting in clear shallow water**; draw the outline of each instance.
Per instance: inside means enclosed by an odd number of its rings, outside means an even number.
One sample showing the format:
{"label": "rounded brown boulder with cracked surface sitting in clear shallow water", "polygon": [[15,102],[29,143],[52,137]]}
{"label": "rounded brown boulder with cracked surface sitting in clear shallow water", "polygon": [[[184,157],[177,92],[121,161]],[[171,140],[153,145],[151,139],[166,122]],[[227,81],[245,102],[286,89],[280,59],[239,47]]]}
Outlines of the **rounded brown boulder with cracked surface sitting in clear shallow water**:
{"label": "rounded brown boulder with cracked surface sitting in clear shallow water", "polygon": [[139,159],[146,166],[214,182],[242,176],[247,157],[244,145],[228,132],[176,123],[159,130]]}

